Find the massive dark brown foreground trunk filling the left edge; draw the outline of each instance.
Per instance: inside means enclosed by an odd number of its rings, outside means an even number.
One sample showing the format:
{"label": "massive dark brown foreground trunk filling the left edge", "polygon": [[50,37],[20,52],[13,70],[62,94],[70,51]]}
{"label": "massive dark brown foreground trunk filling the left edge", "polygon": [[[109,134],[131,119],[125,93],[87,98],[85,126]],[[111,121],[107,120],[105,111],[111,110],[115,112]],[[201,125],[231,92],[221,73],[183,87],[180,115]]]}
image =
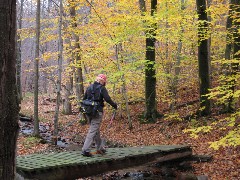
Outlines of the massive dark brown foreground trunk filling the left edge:
{"label": "massive dark brown foreground trunk filling the left edge", "polygon": [[16,86],[16,1],[0,3],[0,179],[15,178],[19,103]]}

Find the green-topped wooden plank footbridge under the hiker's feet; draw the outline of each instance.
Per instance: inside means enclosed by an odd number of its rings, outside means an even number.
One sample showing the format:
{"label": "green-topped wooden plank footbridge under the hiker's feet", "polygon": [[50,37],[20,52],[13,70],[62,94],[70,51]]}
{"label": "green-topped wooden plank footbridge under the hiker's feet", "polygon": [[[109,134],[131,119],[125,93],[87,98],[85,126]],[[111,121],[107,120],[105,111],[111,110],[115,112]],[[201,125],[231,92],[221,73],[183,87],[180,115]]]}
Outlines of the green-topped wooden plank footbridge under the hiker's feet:
{"label": "green-topped wooden plank footbridge under the hiker's feet", "polygon": [[26,179],[74,180],[155,160],[164,162],[191,155],[191,148],[185,145],[108,148],[105,155],[93,157],[83,157],[80,151],[32,154],[17,157],[17,172]]}

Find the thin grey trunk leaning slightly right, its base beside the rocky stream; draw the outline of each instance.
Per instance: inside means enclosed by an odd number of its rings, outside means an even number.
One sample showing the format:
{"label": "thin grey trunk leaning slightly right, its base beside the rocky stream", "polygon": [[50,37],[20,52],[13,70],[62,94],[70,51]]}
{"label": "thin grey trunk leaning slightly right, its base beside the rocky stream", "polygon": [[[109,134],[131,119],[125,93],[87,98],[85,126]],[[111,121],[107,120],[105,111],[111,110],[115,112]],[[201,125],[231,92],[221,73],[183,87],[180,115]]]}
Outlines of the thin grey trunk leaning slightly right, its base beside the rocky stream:
{"label": "thin grey trunk leaning slightly right, its base beside the rocky stream", "polygon": [[59,24],[58,24],[58,79],[57,79],[57,101],[54,114],[54,131],[53,131],[53,144],[57,145],[57,136],[58,136],[58,116],[59,116],[59,107],[61,100],[61,82],[62,82],[62,61],[63,61],[63,39],[62,39],[62,15],[63,15],[63,4],[62,0],[59,0]]}

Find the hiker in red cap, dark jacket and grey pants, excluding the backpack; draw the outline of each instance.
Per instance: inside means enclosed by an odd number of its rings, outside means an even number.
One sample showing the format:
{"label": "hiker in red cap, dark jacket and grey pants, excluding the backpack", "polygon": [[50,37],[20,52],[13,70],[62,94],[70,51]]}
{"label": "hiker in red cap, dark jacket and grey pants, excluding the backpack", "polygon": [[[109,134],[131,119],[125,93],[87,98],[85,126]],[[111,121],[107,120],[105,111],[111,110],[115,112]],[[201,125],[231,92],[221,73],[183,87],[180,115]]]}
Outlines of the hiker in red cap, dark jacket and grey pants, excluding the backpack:
{"label": "hiker in red cap, dark jacket and grey pants, excluding the backpack", "polygon": [[[103,117],[103,107],[104,107],[104,100],[109,103],[114,109],[117,109],[117,104],[112,101],[111,97],[108,94],[108,91],[105,87],[107,81],[107,77],[104,74],[99,74],[96,77],[96,81],[90,85],[83,97],[83,100],[89,99],[92,96],[92,90],[94,90],[95,99],[98,99],[99,101],[99,106],[97,109],[97,113],[94,117],[87,116],[88,122],[90,124],[84,145],[82,147],[82,155],[91,157],[91,146],[93,143],[93,140],[95,140],[96,143],[96,149],[97,149],[97,154],[105,154],[106,150],[103,147],[102,140],[100,138],[100,125],[102,122],[102,117]],[[91,87],[92,86],[92,87]]]}

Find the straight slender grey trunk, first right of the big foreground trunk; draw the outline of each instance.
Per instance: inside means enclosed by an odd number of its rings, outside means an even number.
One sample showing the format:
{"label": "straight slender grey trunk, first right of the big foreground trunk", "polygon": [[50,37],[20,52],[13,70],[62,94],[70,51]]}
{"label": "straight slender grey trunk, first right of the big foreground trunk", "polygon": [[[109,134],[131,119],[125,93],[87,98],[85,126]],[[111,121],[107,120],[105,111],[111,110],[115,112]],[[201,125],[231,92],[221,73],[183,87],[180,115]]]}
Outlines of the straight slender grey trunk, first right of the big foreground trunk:
{"label": "straight slender grey trunk, first right of the big foreground trunk", "polygon": [[39,136],[38,119],[38,79],[39,79],[39,39],[40,39],[40,0],[37,0],[36,10],[36,47],[34,61],[34,136]]}

